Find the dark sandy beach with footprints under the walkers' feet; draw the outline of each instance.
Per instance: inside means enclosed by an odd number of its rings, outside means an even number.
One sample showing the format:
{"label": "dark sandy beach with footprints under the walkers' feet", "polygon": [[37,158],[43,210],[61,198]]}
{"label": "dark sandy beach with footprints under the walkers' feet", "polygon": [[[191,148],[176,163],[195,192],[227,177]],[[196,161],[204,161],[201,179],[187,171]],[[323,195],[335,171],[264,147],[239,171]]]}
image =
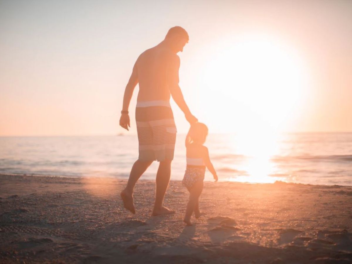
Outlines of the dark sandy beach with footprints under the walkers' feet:
{"label": "dark sandy beach with footprints under the walkers' feet", "polygon": [[166,216],[151,216],[153,181],[137,183],[137,214],[127,212],[125,184],[0,175],[0,262],[352,262],[352,187],[205,182],[206,215],[187,227],[181,182],[170,182]]}

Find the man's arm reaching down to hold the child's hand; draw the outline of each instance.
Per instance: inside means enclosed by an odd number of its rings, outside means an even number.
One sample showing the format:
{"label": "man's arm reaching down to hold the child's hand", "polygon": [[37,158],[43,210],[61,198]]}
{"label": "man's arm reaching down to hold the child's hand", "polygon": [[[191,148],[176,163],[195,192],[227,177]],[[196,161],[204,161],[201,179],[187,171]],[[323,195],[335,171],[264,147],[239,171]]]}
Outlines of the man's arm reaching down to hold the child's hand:
{"label": "man's arm reaching down to hold the child's hand", "polygon": [[168,78],[169,90],[170,90],[172,99],[174,99],[174,101],[176,102],[178,107],[180,107],[180,109],[184,113],[187,121],[190,124],[193,124],[193,123],[197,122],[198,119],[196,119],[194,117],[194,115],[191,114],[186,102],[184,101],[181,88],[178,85],[178,82],[179,82],[178,70],[179,69],[180,69],[180,58],[178,56],[175,56],[175,57],[173,57],[171,59],[170,67],[168,69],[168,73],[169,73],[169,78]]}

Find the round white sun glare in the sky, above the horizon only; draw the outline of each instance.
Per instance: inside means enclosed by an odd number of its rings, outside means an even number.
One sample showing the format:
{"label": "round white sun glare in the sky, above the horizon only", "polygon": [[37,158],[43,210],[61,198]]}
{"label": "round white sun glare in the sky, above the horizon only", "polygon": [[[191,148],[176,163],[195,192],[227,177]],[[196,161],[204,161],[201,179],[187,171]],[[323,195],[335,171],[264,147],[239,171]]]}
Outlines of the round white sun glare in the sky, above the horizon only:
{"label": "round white sun glare in the sky, above the horizon only", "polygon": [[[297,114],[307,87],[298,52],[263,35],[225,38],[211,45],[200,80],[202,87],[220,94],[221,107],[231,110],[235,131],[290,129],[287,121]],[[214,99],[211,91],[207,94]]]}

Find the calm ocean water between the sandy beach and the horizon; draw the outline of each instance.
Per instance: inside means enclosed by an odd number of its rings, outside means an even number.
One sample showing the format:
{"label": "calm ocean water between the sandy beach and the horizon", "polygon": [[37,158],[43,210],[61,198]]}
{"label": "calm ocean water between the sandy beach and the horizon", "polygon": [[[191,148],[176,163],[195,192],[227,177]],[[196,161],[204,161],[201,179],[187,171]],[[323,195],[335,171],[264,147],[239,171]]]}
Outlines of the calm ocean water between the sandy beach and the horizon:
{"label": "calm ocean water between the sandy beach and the horizon", "polygon": [[[171,180],[186,169],[185,137],[177,135]],[[205,145],[220,181],[352,186],[352,133],[210,134]],[[136,135],[0,137],[2,174],[128,178],[137,158]]]}

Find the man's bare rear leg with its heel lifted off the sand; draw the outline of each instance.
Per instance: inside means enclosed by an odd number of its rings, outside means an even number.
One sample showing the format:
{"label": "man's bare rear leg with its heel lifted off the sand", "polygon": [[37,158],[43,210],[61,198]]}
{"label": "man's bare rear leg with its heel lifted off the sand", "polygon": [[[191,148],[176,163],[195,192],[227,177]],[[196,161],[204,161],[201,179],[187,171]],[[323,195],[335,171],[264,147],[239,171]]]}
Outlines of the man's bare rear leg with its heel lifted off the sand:
{"label": "man's bare rear leg with its heel lifted off the sand", "polygon": [[136,185],[136,182],[142,176],[142,174],[145,172],[145,170],[152,164],[153,161],[140,161],[137,159],[137,161],[133,164],[130,177],[128,178],[127,186],[126,188],[121,191],[121,198],[122,201],[124,202],[124,207],[131,211],[132,214],[136,213],[136,209],[134,208],[133,205],[133,190],[134,186]]}

